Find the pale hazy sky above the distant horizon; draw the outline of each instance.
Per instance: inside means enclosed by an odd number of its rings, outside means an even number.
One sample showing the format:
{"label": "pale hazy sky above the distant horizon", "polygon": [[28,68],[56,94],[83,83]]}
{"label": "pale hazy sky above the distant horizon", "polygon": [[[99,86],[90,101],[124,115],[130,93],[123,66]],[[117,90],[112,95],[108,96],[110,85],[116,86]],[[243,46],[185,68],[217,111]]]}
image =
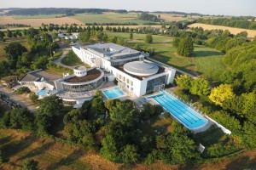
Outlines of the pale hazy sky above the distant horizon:
{"label": "pale hazy sky above the distant horizon", "polygon": [[0,8],[13,7],[111,8],[256,16],[256,0],[0,0]]}

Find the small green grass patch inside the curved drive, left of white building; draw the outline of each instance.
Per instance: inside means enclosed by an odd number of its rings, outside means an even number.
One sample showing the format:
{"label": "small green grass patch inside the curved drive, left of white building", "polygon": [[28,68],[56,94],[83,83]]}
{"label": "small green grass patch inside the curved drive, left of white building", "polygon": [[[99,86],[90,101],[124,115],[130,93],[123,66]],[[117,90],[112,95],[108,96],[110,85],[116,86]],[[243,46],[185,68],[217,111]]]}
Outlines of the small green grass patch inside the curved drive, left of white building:
{"label": "small green grass patch inside the curved drive, left of white building", "polygon": [[79,59],[79,57],[73,53],[73,51],[69,51],[65,58],[61,60],[61,63],[68,66],[84,65],[87,68],[90,67],[90,65],[82,62],[81,59]]}

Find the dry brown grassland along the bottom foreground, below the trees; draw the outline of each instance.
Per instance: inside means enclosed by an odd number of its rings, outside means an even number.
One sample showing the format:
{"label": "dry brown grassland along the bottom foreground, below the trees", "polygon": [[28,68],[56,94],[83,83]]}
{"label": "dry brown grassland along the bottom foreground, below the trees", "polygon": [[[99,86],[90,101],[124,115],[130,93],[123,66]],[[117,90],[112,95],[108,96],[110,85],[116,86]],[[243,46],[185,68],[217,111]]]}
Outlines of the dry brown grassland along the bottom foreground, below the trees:
{"label": "dry brown grassland along the bottom foreground, below the trees", "polygon": [[[0,149],[8,162],[0,169],[19,169],[26,159],[38,161],[40,169],[124,169],[120,164],[106,161],[102,156],[90,154],[75,146],[58,144],[51,139],[39,138],[18,130],[0,129]],[[207,163],[201,166],[166,166],[160,162],[151,166],[138,164],[132,169],[246,169],[256,166],[256,149],[242,153],[236,158]]]}

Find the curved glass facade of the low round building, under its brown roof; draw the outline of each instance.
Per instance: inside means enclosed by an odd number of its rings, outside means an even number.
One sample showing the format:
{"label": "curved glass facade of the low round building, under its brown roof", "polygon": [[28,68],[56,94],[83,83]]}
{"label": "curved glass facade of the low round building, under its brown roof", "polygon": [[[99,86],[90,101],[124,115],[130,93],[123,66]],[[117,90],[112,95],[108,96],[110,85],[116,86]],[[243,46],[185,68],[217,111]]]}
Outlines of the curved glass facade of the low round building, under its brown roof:
{"label": "curved glass facade of the low round building, under its brown roof", "polygon": [[62,83],[62,85],[64,90],[67,92],[80,93],[80,92],[87,92],[87,91],[99,88],[102,85],[102,82],[103,82],[103,78],[101,78],[96,82],[90,82],[89,84],[71,85],[71,84]]}

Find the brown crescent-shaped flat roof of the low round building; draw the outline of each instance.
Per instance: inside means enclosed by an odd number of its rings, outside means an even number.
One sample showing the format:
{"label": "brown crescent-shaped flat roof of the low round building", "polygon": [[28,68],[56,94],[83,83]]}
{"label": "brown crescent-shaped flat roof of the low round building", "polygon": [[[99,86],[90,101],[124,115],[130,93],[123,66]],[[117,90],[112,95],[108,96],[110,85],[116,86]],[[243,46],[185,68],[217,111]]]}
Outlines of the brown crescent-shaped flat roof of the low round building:
{"label": "brown crescent-shaped flat roof of the low round building", "polygon": [[98,71],[96,68],[87,71],[87,75],[84,77],[69,77],[64,80],[64,82],[90,82],[95,80],[96,78],[100,77],[102,74],[101,71]]}

